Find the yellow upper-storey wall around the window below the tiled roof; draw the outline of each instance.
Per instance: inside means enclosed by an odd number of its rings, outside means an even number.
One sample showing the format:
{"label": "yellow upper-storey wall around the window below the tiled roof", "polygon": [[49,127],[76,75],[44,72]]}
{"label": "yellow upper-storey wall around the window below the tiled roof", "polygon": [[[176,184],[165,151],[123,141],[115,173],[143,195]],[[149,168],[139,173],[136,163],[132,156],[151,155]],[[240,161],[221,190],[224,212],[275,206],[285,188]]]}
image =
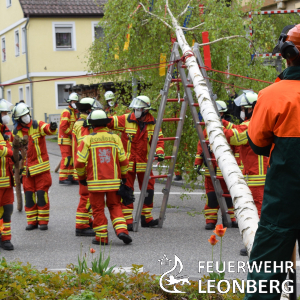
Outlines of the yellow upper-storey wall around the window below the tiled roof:
{"label": "yellow upper-storey wall around the window below the tiled roof", "polygon": [[[52,22],[75,22],[76,51],[54,51]],[[30,72],[85,70],[85,56],[92,44],[95,18],[32,18],[29,21],[28,53]],[[46,68],[46,69],[45,69]]]}

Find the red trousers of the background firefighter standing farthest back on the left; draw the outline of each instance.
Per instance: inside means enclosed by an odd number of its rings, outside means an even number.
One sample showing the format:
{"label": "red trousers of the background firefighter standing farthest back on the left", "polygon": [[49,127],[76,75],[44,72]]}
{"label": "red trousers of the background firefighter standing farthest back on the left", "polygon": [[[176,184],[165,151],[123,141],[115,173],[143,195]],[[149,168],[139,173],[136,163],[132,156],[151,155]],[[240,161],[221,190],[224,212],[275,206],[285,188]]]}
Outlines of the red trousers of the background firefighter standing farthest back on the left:
{"label": "red trousers of the background firefighter standing farthest back on the left", "polygon": [[59,181],[63,180],[77,180],[76,171],[74,169],[72,146],[59,145],[61,152],[61,162],[59,168]]}

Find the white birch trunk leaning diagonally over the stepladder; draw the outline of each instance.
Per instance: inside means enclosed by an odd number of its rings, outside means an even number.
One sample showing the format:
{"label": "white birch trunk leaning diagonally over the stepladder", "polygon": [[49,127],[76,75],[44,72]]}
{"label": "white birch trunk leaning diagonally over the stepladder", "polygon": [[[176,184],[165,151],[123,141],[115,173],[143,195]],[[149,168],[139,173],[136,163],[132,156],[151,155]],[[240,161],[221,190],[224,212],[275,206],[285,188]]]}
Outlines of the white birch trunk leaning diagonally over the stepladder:
{"label": "white birch trunk leaning diagonally over the stepladder", "polygon": [[[192,54],[192,49],[188,45],[180,25],[169,9],[168,0],[166,0],[166,4],[168,12],[172,18],[173,27],[176,30],[178,44],[184,56],[186,54]],[[233,156],[231,148],[227,143],[226,137],[223,133],[223,125],[215,111],[205,79],[200,72],[195,56],[192,55],[187,57],[185,65],[187,66],[189,75],[193,81],[200,112],[205,121],[211,149],[215,154],[216,160],[232,197],[243,243],[250,254],[258,226],[257,224],[259,222],[257,209],[254,204],[251,191],[248,188],[244,176],[237,165],[235,157]]]}

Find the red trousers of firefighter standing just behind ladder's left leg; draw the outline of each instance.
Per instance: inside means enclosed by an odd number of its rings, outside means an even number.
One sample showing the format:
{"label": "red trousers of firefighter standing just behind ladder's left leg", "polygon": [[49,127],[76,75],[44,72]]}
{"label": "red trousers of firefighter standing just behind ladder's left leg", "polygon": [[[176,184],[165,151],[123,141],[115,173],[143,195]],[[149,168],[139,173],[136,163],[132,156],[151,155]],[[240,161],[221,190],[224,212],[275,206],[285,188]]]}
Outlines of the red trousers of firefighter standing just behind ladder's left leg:
{"label": "red trousers of firefighter standing just behind ladder's left leg", "polygon": [[[129,171],[127,173],[126,185],[134,191],[134,181],[135,181],[135,178],[137,177],[138,183],[139,183],[139,188],[142,189],[144,175],[145,175],[144,172]],[[150,176],[152,176],[152,175],[153,175],[153,173],[151,171]],[[148,196],[146,196],[146,198],[145,198],[143,209],[142,209],[142,216],[145,216],[147,223],[149,223],[150,221],[153,220],[152,208],[153,208],[153,197],[154,197],[154,183],[155,183],[155,179],[150,178],[148,185],[147,185]],[[132,216],[133,203],[130,205],[127,205],[127,206],[122,204],[122,211],[123,211],[123,214],[124,214],[127,224],[132,224],[133,223],[133,216]]]}

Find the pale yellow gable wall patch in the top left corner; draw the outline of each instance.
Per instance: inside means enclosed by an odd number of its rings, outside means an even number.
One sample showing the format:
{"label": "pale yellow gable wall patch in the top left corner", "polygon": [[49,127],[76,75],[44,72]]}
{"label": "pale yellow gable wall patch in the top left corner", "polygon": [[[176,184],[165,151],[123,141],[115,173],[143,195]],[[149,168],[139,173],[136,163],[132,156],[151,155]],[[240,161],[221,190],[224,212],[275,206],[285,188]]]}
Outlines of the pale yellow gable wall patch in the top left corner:
{"label": "pale yellow gable wall patch in the top left corner", "polygon": [[11,0],[6,7],[6,0],[0,0],[0,31],[24,18],[19,0]]}

